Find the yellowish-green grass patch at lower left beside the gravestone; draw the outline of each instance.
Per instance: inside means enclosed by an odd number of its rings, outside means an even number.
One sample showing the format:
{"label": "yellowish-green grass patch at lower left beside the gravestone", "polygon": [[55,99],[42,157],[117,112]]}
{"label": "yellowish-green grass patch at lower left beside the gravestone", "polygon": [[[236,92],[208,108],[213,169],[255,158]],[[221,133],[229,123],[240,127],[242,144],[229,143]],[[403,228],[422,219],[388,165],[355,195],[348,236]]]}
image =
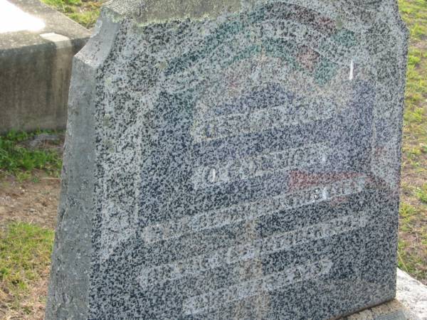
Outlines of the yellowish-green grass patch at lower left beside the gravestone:
{"label": "yellowish-green grass patch at lower left beside the gravestone", "polygon": [[[48,277],[53,236],[53,230],[29,223],[11,223],[0,229],[0,316],[2,310],[21,314],[33,310],[24,298]],[[43,297],[38,299],[44,303]]]}

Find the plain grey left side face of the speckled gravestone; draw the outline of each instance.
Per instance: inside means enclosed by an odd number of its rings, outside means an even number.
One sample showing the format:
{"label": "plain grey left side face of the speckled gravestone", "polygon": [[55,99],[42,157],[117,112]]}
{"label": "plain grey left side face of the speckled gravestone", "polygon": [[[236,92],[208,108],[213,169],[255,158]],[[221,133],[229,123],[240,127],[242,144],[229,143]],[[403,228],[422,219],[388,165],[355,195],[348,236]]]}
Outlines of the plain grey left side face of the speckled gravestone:
{"label": "plain grey left side face of the speckled gravestone", "polygon": [[110,54],[119,27],[101,15],[93,36],[73,59],[46,320],[88,319],[95,206],[96,75]]}

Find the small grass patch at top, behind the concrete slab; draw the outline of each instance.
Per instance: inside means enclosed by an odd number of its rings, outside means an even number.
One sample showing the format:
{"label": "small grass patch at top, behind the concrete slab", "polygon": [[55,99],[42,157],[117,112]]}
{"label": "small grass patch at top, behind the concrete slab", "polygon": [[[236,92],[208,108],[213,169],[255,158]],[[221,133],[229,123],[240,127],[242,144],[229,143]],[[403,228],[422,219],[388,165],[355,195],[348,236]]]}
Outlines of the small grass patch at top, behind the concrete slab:
{"label": "small grass patch at top, behind the concrete slab", "polygon": [[41,0],[62,12],[85,28],[92,28],[100,14],[102,1],[85,0]]}

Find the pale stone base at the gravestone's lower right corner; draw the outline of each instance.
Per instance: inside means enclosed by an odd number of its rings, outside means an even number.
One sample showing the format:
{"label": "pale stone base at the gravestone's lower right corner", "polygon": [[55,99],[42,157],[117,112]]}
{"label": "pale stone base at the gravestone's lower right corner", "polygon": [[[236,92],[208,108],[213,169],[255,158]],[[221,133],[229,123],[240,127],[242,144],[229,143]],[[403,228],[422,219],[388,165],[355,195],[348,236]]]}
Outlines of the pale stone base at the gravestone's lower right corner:
{"label": "pale stone base at the gravestone's lower right corner", "polygon": [[342,320],[427,320],[427,287],[398,269],[396,299]]}

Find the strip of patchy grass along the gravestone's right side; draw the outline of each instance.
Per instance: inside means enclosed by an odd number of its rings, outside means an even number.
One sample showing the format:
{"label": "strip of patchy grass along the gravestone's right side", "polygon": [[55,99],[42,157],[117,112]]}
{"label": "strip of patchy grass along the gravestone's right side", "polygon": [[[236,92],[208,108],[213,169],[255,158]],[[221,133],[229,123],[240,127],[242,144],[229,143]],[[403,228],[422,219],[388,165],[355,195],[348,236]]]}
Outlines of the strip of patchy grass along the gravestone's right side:
{"label": "strip of patchy grass along the gravestone's right side", "polygon": [[427,1],[399,0],[410,31],[404,113],[399,267],[427,284]]}

